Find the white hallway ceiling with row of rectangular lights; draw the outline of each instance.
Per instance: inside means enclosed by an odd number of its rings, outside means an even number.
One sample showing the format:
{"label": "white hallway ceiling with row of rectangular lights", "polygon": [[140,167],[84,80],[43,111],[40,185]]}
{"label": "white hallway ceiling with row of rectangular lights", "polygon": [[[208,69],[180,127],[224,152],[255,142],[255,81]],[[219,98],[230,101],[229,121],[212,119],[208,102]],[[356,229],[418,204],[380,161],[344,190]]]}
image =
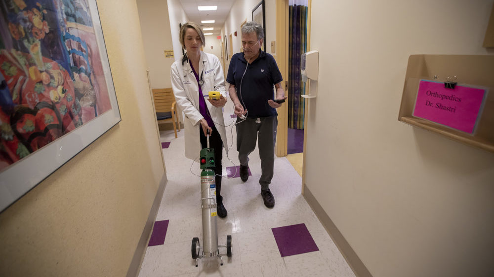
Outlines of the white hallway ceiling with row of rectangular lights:
{"label": "white hallway ceiling with row of rectangular lights", "polygon": [[[221,29],[225,20],[230,13],[233,3],[236,0],[180,0],[182,8],[190,21],[199,24],[202,28],[213,27],[213,31],[203,31],[204,33],[213,33],[221,35]],[[217,10],[199,11],[197,6],[218,6]],[[201,23],[201,20],[215,20],[214,23]]]}

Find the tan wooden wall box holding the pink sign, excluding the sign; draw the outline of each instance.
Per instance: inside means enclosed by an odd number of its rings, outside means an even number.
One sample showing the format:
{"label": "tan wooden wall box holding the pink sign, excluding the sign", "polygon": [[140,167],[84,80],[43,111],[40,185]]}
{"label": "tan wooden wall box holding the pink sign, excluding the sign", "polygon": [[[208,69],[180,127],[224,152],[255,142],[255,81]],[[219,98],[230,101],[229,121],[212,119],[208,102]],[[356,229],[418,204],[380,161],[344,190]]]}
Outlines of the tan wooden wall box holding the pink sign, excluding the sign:
{"label": "tan wooden wall box holding the pink sign, excluding the sign", "polygon": [[[458,85],[487,89],[484,108],[473,134],[413,116],[419,81],[445,82],[452,76],[456,76]],[[398,120],[494,152],[494,55],[411,55]]]}

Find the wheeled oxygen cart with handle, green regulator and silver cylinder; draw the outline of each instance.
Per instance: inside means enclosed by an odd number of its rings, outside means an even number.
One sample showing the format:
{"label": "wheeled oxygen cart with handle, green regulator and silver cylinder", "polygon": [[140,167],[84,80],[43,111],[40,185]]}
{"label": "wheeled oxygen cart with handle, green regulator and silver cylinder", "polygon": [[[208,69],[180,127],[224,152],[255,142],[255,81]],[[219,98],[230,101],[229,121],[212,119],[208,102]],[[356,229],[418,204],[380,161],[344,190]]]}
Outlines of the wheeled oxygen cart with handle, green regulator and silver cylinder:
{"label": "wheeled oxygen cart with handle, green regulator and silver cylinder", "polygon": [[226,247],[226,255],[232,256],[232,236],[226,236],[226,245],[218,245],[217,211],[216,211],[216,182],[214,173],[214,149],[209,148],[209,134],[207,134],[207,148],[201,149],[201,208],[203,210],[203,246],[199,238],[192,239],[192,258],[197,262],[205,257],[218,257],[223,265],[223,257],[219,254],[219,247]]}

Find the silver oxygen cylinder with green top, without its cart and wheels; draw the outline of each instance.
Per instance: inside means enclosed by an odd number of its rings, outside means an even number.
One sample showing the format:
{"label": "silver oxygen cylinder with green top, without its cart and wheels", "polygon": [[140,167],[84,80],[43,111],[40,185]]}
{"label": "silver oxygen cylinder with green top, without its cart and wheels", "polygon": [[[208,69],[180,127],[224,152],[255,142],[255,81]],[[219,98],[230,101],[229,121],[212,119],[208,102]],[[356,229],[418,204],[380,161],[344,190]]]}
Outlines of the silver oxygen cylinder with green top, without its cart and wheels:
{"label": "silver oxygen cylinder with green top, without its cart and wheels", "polygon": [[214,171],[205,169],[201,172],[201,208],[203,210],[203,251],[206,257],[218,252],[216,182]]}

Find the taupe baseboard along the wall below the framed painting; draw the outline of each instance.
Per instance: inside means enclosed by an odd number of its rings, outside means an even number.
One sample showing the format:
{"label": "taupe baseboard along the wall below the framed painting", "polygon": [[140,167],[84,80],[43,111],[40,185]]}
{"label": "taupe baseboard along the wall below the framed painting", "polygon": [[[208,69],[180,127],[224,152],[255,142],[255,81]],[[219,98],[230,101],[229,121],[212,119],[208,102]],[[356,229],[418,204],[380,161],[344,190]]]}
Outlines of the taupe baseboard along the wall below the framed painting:
{"label": "taupe baseboard along the wall below the framed painting", "polygon": [[137,277],[139,275],[142,261],[144,259],[144,254],[146,254],[148,241],[149,238],[151,237],[153,225],[156,220],[156,215],[158,214],[161,200],[163,198],[163,193],[165,192],[167,181],[168,180],[166,179],[166,173],[164,173],[160,181],[160,186],[158,187],[158,192],[156,192],[155,200],[153,202],[153,205],[151,206],[151,211],[149,212],[148,220],[146,221],[144,230],[142,230],[141,238],[137,243],[137,248],[135,249],[134,257],[132,258],[132,262],[130,263],[130,266],[128,268],[127,277]]}

